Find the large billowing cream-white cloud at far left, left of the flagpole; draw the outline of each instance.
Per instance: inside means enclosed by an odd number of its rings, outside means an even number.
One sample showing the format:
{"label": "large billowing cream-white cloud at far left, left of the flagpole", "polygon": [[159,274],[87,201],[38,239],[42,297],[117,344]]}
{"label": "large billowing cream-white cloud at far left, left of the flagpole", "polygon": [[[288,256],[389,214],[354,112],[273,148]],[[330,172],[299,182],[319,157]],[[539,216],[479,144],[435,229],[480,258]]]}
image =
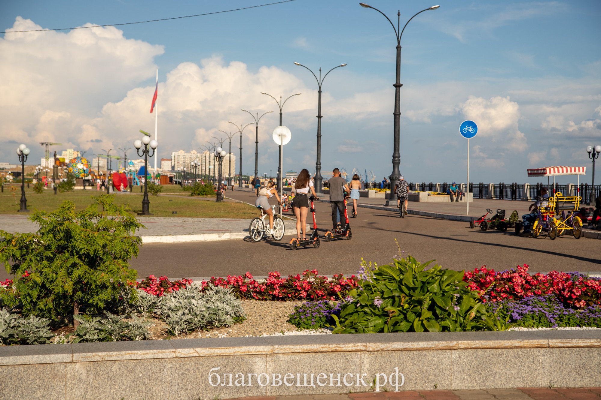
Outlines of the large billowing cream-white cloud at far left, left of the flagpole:
{"label": "large billowing cream-white cloud at far left, left of the flagpole", "polygon": [[[7,32],[40,29],[17,17]],[[123,37],[112,27],[63,32],[6,33],[0,38],[0,129],[5,139],[89,139],[82,126],[109,98],[152,76],[162,46]]]}

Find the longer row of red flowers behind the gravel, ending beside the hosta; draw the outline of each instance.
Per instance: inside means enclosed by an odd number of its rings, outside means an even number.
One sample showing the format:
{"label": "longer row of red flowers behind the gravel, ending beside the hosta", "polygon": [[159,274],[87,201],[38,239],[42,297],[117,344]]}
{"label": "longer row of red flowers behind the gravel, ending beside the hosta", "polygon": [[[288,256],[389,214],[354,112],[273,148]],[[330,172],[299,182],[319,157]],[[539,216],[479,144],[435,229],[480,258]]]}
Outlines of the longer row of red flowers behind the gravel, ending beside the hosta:
{"label": "longer row of red flowers behind the gravel, ending beside the hosta", "polygon": [[237,298],[255,300],[338,300],[358,286],[355,275],[344,277],[335,274],[331,278],[319,276],[317,270],[306,270],[294,276],[281,277],[279,272],[270,272],[264,282],[255,280],[250,272],[225,278],[211,277],[203,280],[203,288],[212,284],[229,288]]}

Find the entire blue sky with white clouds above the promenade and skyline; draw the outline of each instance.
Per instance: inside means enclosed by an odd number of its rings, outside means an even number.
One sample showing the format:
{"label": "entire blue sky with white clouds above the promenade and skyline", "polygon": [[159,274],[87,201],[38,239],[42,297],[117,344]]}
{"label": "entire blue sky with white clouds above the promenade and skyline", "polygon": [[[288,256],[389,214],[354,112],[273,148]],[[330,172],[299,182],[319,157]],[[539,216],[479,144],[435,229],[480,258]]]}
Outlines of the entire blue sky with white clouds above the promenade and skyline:
{"label": "entire blue sky with white clouds above the promenade and skyline", "polygon": [[[435,4],[369,1],[393,21],[400,7],[401,26]],[[264,2],[4,1],[0,22],[2,30],[68,28]],[[401,173],[410,181],[465,180],[458,127],[468,118],[480,126],[471,141],[473,181],[523,182],[535,166],[590,169],[584,149],[601,144],[601,2],[436,4],[407,25],[401,41]],[[36,159],[43,148],[35,143],[47,139],[91,150],[129,145],[136,127],[153,129],[147,108],[158,67],[161,157],[198,148],[217,129],[228,130],[227,121],[250,122],[240,108],[277,111],[260,91],[300,91],[284,108],[293,133],[284,169],[312,171],[317,83],[293,61],[316,72],[346,62],[323,83],[322,169],[373,170],[379,180],[390,174],[396,43],[376,11],[347,0],[297,0],[117,29],[2,34],[0,52],[8,56],[0,71],[8,79],[0,87],[17,100],[1,100],[0,160],[15,158],[14,142],[29,141]],[[260,172],[277,169],[270,139],[277,118],[274,112],[261,120]],[[248,130],[243,172],[252,169]]]}

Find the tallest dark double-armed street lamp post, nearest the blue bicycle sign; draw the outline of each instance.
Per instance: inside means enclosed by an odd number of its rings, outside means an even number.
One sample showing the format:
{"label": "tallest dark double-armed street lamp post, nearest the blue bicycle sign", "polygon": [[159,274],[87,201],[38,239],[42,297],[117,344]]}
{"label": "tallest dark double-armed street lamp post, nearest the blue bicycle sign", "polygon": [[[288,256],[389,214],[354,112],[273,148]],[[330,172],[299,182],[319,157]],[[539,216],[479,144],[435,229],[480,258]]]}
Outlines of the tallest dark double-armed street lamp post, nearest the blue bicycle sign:
{"label": "tallest dark double-armed street lamp post, nearest the blue bicycle sign", "polygon": [[389,176],[390,178],[390,187],[393,188],[397,182],[398,177],[401,175],[399,166],[401,163],[401,154],[400,154],[400,124],[401,124],[401,106],[400,106],[400,89],[403,84],[400,82],[401,79],[401,37],[403,36],[403,32],[407,27],[407,23],[410,22],[417,14],[423,13],[428,10],[436,10],[436,8],[440,7],[439,5],[433,5],[432,7],[426,8],[426,10],[421,10],[419,13],[415,14],[413,17],[410,17],[409,20],[403,26],[403,30],[400,31],[400,19],[401,19],[401,11],[399,10],[397,13],[397,27],[394,27],[394,23],[386,16],[386,14],[382,13],[382,11],[377,8],[371,7],[371,5],[367,5],[365,3],[359,3],[361,7],[365,8],[373,8],[380,14],[386,17],[390,25],[392,25],[392,29],[394,29],[394,34],[397,38],[397,71],[396,71],[396,81],[394,83],[394,139],[393,146],[394,151],[392,153],[392,174]]}

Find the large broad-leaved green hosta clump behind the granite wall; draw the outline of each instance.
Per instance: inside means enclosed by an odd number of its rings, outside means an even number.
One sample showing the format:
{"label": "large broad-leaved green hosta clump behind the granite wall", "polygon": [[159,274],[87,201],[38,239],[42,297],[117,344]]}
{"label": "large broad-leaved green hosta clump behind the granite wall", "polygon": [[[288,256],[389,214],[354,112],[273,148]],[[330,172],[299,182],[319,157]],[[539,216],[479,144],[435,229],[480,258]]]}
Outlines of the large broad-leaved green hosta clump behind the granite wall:
{"label": "large broad-leaved green hosta clump behind the granite wall", "polygon": [[494,330],[486,322],[492,314],[463,282],[463,271],[439,265],[426,270],[431,262],[407,256],[366,268],[361,287],[350,291],[352,298],[341,308],[334,333]]}

